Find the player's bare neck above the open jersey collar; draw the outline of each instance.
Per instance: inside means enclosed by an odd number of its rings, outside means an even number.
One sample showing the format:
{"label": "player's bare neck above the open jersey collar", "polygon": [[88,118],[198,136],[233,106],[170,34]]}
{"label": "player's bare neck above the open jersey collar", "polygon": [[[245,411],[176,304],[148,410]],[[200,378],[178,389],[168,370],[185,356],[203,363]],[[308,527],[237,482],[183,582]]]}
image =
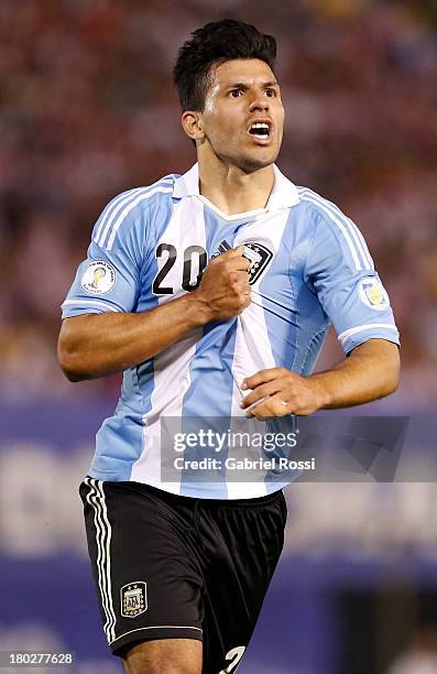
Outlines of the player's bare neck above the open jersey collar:
{"label": "player's bare neck above the open jersey collar", "polygon": [[217,160],[199,161],[199,191],[227,215],[264,208],[273,188],[274,172],[270,164],[252,173]]}

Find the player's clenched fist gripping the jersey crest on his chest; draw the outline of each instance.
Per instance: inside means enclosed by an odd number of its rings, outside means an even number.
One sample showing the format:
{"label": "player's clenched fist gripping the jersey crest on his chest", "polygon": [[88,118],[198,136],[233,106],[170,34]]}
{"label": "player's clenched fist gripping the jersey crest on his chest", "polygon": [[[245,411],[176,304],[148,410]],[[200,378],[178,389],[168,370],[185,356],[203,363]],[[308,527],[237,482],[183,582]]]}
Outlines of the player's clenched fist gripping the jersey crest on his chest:
{"label": "player's clenched fist gripping the jersey crest on his chest", "polygon": [[242,252],[243,247],[239,246],[215,258],[206,268],[199,287],[192,293],[208,312],[208,320],[233,318],[250,305],[250,262]]}

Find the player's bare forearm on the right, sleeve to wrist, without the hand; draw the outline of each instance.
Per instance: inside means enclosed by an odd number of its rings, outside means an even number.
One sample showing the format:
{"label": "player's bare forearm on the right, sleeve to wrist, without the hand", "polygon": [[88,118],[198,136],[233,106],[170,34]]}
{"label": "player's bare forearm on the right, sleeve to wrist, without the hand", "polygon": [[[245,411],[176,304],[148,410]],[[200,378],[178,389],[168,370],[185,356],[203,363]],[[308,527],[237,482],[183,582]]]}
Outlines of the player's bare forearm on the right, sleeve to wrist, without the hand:
{"label": "player's bare forearm on the right, sleeve to wrist, without the hand", "polygon": [[310,377],[321,395],[320,409],[361,405],[393,393],[398,384],[400,355],[395,344],[369,339],[331,370]]}

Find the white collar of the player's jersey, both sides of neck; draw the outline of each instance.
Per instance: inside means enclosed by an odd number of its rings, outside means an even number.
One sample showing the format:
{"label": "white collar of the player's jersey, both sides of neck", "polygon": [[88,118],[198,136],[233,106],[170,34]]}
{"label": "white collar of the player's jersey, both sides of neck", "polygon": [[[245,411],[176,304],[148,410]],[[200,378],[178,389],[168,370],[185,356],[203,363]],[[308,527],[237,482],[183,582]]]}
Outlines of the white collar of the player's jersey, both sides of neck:
{"label": "white collar of the player's jersey, both sides of neck", "polygon": [[[281,173],[276,164],[273,164],[273,171],[275,180],[265,210],[296,206],[299,203],[296,186]],[[173,196],[178,199],[187,196],[200,196],[199,165],[197,163],[175,180]]]}

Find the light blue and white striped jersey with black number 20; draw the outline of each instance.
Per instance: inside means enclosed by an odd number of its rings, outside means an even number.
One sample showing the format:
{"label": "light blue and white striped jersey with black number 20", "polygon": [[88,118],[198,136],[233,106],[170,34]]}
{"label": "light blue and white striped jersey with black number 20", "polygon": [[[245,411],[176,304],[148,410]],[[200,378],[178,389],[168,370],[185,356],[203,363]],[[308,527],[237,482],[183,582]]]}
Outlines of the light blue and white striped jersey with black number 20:
{"label": "light blue and white striped jersey with black number 20", "polygon": [[198,165],[125,192],[103,209],[63,317],[146,312],[194,290],[220,243],[254,254],[252,303],[197,328],[123,373],[89,470],[200,498],[255,498],[283,485],[161,480],[162,416],[238,417],[239,384],[265,368],[313,371],[329,325],[348,354],[370,338],[398,344],[387,294],[357,226],[274,166],[265,208],[227,216],[199,195]]}

